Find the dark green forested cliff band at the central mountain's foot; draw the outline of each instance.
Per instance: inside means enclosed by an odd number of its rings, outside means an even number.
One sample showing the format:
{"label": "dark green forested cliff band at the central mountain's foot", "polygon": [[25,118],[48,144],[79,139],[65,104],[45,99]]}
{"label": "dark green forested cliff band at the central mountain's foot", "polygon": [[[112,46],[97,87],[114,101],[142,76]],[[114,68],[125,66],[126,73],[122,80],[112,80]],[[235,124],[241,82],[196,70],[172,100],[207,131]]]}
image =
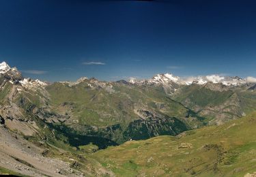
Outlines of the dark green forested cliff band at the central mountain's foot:
{"label": "dark green forested cliff band at the central mountain's foot", "polygon": [[[68,127],[63,127],[63,129],[68,129]],[[72,129],[75,129],[76,135],[81,137],[91,136],[98,138],[98,141],[100,141],[100,138],[104,138],[112,144],[122,144],[130,139],[145,140],[158,135],[178,135],[188,130],[189,127],[177,118],[166,116],[163,118],[139,118],[130,122],[126,127],[122,127],[120,124],[106,127],[80,125],[72,126]],[[97,143],[95,142],[95,144]]]}

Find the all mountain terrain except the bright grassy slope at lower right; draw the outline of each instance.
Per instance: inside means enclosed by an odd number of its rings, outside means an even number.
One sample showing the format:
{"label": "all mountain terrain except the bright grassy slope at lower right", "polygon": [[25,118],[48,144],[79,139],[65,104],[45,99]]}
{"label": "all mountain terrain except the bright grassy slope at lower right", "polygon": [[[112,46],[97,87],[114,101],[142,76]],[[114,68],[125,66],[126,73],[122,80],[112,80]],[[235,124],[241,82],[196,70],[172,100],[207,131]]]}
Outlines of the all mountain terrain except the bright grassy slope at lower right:
{"label": "all mountain terrain except the bright grassy slope at lower right", "polygon": [[94,158],[86,160],[87,151],[242,118],[256,108],[254,88],[238,77],[191,81],[171,74],[130,82],[81,78],[46,83],[23,78],[3,62],[0,166],[30,176],[113,176]]}

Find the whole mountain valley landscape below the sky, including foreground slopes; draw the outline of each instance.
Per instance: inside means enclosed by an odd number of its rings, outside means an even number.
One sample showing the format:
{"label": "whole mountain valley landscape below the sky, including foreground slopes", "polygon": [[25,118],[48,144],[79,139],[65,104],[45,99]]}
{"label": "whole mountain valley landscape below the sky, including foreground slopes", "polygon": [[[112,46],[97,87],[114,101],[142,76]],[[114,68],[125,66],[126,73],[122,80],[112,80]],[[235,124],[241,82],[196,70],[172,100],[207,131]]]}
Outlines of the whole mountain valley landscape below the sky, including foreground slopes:
{"label": "whole mountain valley landscape below the sky, including foreground slopes", "polygon": [[42,82],[0,64],[0,174],[252,176],[251,78]]}

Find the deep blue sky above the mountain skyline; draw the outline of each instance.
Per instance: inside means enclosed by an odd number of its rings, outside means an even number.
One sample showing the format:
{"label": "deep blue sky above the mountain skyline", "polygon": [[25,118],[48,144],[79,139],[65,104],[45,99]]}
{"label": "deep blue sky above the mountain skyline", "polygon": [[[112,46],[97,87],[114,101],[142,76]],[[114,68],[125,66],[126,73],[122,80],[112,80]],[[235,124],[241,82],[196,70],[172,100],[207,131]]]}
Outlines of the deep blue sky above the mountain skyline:
{"label": "deep blue sky above the mountain skyline", "polygon": [[256,77],[256,1],[0,1],[0,61],[25,76]]}

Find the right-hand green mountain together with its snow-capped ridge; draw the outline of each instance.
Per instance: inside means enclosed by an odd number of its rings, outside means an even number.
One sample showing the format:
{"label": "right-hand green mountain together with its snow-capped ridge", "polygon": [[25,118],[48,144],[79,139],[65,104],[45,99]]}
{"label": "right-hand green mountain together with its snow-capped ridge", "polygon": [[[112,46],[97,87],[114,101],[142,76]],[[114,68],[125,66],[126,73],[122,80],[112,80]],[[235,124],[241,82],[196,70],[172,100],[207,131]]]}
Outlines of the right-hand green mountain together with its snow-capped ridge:
{"label": "right-hand green mountain together with its snow-capped ridge", "polygon": [[[162,86],[171,99],[205,118],[210,125],[221,125],[255,110],[255,83],[237,76],[199,76],[180,78],[158,74],[149,80],[135,80],[139,86]],[[249,92],[251,91],[251,92]]]}

